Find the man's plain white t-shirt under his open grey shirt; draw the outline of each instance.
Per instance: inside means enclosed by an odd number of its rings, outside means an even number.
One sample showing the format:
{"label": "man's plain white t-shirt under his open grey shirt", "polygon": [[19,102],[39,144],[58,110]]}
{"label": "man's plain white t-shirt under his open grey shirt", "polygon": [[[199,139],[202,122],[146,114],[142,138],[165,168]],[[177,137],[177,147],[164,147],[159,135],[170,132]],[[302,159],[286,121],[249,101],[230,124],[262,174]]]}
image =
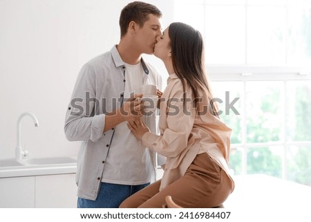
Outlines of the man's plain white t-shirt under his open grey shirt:
{"label": "man's plain white t-shirt under his open grey shirt", "polygon": [[[141,63],[136,65],[126,64],[124,101],[129,99],[131,94],[140,93],[140,88],[143,84],[143,75],[145,74]],[[113,146],[114,141],[112,142],[111,149],[109,150],[106,159],[102,182],[129,184],[129,181],[133,181],[132,185],[149,183],[151,180],[150,172],[153,168],[150,161],[149,150],[142,145],[142,142],[138,142],[138,139],[135,138],[133,133],[131,133],[129,127],[127,127],[127,121],[122,122],[115,127],[114,137],[118,138],[117,143],[129,146],[126,146],[126,148]],[[133,154],[135,154],[135,159],[131,159]],[[129,167],[128,169],[137,172],[137,174],[128,174],[126,171],[122,170],[124,168],[113,167],[113,165],[110,165],[109,163],[114,163],[114,165],[115,163],[117,163],[117,165],[126,164]],[[123,181],[120,181],[120,178],[122,178]]]}

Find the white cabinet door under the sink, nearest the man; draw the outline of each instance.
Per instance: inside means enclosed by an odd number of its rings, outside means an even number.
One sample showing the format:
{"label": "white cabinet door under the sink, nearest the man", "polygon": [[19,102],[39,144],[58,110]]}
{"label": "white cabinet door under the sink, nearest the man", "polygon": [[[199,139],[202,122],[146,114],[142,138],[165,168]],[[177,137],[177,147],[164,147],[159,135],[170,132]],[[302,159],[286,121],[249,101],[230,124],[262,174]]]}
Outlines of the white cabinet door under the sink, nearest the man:
{"label": "white cabinet door under the sink, nearest the man", "polygon": [[36,176],[35,207],[77,207],[75,174]]}

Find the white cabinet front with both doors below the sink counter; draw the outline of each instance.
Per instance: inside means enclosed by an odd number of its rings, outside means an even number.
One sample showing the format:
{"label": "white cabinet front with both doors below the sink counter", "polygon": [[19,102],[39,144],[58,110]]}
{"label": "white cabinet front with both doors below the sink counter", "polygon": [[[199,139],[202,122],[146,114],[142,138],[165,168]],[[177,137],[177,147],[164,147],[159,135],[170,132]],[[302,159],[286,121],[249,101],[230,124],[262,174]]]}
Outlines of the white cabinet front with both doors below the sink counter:
{"label": "white cabinet front with both doors below the sink counter", "polygon": [[75,174],[0,178],[0,208],[75,208]]}

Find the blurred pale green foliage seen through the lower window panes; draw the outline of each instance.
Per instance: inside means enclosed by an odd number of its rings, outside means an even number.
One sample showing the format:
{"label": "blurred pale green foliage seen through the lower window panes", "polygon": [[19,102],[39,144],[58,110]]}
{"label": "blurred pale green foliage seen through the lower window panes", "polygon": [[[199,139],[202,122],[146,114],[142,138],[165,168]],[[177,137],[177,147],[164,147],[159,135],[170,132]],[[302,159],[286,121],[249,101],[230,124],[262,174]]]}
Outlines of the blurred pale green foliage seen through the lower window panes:
{"label": "blurred pale green foliage seen through the lower window panes", "polygon": [[[291,143],[311,141],[311,81],[288,81],[285,88],[287,93],[282,93],[283,82],[279,83],[256,82],[263,86],[263,90],[260,99],[247,99],[245,102],[246,148],[241,145],[232,149],[230,167],[235,174],[243,174],[245,149],[247,174],[267,174],[278,178],[284,176],[289,181],[311,185],[311,145]],[[249,89],[254,89],[253,87],[251,84]],[[249,92],[246,95],[252,97]],[[286,110],[282,105],[283,100]],[[233,130],[232,145],[243,143],[242,119],[245,117],[241,114],[220,115]],[[253,146],[262,142],[271,145]]]}

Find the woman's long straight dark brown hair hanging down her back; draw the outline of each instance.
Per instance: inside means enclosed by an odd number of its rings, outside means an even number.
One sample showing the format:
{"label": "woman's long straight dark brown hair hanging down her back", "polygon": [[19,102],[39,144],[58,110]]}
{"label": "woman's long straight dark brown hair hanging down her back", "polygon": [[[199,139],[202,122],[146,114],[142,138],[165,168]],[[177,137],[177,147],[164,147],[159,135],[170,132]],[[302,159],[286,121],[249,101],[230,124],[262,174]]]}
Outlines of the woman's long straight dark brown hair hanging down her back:
{"label": "woman's long straight dark brown hair hanging down her back", "polygon": [[[213,115],[218,116],[216,104],[213,102],[211,89],[205,73],[204,46],[202,35],[187,24],[174,22],[169,26],[169,38],[171,39],[171,59],[176,75],[182,80],[185,91],[185,81],[190,85],[194,93],[194,104],[202,98],[200,95],[207,93],[208,104]],[[186,100],[184,94],[184,102]]]}

